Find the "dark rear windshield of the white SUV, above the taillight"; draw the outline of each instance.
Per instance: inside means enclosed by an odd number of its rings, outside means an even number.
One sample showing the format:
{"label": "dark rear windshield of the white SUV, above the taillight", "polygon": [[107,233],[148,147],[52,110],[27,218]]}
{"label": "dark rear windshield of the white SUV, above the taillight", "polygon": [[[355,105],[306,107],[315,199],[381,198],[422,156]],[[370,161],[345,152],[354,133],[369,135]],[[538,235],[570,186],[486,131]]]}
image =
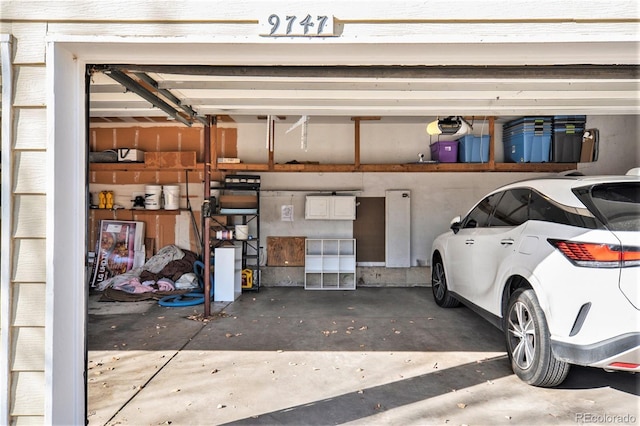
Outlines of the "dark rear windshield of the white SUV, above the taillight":
{"label": "dark rear windshield of the white SUV, above the taillight", "polygon": [[640,229],[640,182],[604,183],[574,192],[610,230]]}

